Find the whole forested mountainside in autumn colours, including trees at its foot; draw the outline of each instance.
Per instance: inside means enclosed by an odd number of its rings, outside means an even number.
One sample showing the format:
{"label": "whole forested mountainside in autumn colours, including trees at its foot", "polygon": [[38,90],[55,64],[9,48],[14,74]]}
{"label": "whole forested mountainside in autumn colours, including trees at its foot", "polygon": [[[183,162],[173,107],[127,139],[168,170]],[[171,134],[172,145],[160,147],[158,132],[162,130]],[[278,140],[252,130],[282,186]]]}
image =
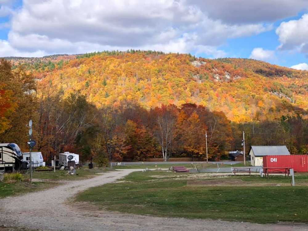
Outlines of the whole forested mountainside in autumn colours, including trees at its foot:
{"label": "whole forested mountainside in autumn colours, including trees at its foot", "polygon": [[70,149],[85,159],[145,160],[164,152],[204,159],[207,131],[210,156],[219,158],[241,148],[243,130],[247,146],[308,150],[307,71],[134,50],[6,60],[0,141],[13,142],[20,136],[14,129],[35,118],[37,148],[47,156]]}

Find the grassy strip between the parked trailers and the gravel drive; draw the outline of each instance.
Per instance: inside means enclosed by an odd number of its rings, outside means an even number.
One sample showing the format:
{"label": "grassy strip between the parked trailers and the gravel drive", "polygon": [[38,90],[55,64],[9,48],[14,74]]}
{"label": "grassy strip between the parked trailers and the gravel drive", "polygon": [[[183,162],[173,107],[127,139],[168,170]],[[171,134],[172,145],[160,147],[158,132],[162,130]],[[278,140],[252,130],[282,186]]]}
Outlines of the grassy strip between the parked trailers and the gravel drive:
{"label": "grassy strip between the parked trailers and the gravel drive", "polygon": [[89,169],[83,167],[76,170],[78,175],[68,175],[67,170],[56,170],[35,172],[33,173],[33,179],[47,180],[43,182],[32,182],[29,184],[30,174],[23,174],[25,181],[15,182],[15,183],[5,183],[0,182],[0,198],[8,196],[18,196],[23,193],[30,193],[34,191],[39,191],[47,188],[59,185],[61,182],[59,180],[83,180],[97,176],[96,173],[106,172],[103,168],[93,168]]}

